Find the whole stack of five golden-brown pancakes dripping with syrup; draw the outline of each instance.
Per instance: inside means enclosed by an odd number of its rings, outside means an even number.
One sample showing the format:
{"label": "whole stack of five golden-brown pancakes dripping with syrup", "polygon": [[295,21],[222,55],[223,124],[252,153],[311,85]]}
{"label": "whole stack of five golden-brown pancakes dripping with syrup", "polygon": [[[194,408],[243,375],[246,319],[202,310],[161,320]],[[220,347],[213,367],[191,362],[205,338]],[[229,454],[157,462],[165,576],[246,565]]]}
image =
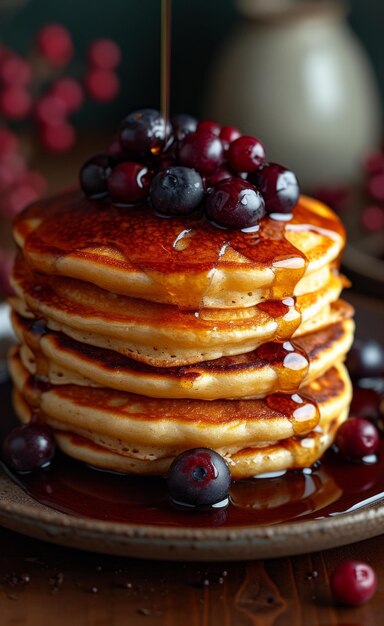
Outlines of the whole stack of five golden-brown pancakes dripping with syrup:
{"label": "whole stack of five golden-brown pancakes dripping with syrup", "polygon": [[235,478],[311,466],[351,399],[345,235],[306,197],[281,217],[228,231],[77,192],[27,208],[11,299],[20,420],[127,473],[200,446]]}

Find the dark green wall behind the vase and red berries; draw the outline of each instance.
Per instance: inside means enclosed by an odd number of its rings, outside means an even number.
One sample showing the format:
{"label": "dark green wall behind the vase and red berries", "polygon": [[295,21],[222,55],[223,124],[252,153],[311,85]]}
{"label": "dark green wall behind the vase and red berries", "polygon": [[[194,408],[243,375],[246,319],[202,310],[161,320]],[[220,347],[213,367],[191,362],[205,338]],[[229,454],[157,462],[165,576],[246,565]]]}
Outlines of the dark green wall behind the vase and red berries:
{"label": "dark green wall behind the vase and red berries", "polygon": [[[0,0],[0,8],[6,1]],[[372,59],[384,95],[384,2],[353,0],[350,6],[351,26]],[[159,104],[159,16],[160,0],[29,0],[3,18],[0,41],[25,52],[41,24],[61,22],[73,35],[77,56],[70,69],[76,74],[87,42],[100,36],[116,39],[123,50],[121,94],[108,106],[90,103],[79,119],[83,125],[111,124],[134,108]],[[173,0],[174,112],[199,114],[212,55],[238,19],[234,0]]]}

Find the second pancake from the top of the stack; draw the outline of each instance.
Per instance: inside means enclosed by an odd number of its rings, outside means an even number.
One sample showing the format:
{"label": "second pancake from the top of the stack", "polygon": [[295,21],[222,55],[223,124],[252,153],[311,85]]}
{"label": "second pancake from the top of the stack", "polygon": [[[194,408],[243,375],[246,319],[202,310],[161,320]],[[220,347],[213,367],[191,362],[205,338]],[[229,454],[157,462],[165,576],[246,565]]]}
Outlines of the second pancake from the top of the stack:
{"label": "second pancake from the top of the stack", "polygon": [[188,365],[249,352],[271,339],[300,336],[329,324],[343,287],[337,273],[316,292],[241,309],[180,310],[112,294],[90,284],[30,271],[16,261],[12,285],[47,326],[82,343],[112,349],[154,366]]}

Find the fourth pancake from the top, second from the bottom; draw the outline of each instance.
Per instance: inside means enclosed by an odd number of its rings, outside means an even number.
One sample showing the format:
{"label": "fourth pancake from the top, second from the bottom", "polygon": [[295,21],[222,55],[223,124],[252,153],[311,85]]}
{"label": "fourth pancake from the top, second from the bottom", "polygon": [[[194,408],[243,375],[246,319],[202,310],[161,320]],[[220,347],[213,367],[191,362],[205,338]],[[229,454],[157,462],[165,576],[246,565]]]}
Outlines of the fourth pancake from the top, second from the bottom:
{"label": "fourth pancake from the top, second from the bottom", "polygon": [[233,449],[287,439],[308,433],[322,420],[329,421],[350,401],[350,383],[342,365],[304,386],[300,395],[211,402],[153,399],[76,385],[39,385],[22,365],[17,348],[10,357],[10,371],[31,410],[43,414],[48,423],[86,433],[91,439],[103,437],[103,443],[114,441],[120,452],[127,446]]}

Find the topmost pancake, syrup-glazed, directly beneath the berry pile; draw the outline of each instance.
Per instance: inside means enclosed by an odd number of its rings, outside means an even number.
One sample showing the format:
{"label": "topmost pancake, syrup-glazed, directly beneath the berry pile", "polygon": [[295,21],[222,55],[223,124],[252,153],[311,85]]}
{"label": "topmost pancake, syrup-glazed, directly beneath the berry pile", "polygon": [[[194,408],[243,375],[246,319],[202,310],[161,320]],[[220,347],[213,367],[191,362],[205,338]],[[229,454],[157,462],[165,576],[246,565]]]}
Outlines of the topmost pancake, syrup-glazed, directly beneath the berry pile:
{"label": "topmost pancake, syrup-glazed, directly beneath the berry pile", "polygon": [[36,271],[194,310],[315,292],[345,243],[333,212],[306,197],[291,220],[266,217],[245,232],[201,215],[165,219],[147,206],[119,208],[71,192],[31,205],[14,235]]}

